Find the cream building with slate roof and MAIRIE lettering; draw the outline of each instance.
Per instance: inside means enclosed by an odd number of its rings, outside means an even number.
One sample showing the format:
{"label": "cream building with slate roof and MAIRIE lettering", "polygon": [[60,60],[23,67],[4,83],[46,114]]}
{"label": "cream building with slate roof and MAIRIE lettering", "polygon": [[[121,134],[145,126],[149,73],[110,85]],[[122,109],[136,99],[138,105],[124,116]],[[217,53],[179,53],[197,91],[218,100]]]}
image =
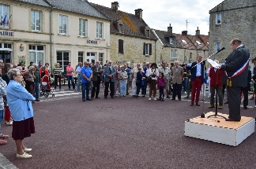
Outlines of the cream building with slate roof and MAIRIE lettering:
{"label": "cream building with slate roof and MAIRIE lettering", "polygon": [[[110,20],[87,1],[0,0],[0,59],[102,64],[109,58]],[[3,23],[3,21],[2,21]]]}

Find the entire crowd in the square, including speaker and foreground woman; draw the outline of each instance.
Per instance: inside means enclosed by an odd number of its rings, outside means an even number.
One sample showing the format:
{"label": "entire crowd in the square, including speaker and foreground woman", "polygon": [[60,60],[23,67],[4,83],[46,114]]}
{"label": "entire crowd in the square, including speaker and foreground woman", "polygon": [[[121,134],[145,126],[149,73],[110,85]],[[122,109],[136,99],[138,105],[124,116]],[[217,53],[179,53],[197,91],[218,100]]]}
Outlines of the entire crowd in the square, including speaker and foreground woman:
{"label": "entire crowd in the square, including speaker and foreground woman", "polygon": [[[223,108],[224,89],[227,88],[227,100],[229,117],[226,121],[240,121],[240,101],[243,99],[243,108],[247,109],[248,91],[250,90],[251,79],[254,80],[254,94],[256,88],[256,58],[252,59],[254,72],[248,68],[250,61],[249,51],[243,46],[239,39],[233,39],[230,43],[233,52],[227,57],[226,63],[218,68],[205,68],[205,60],[198,54],[197,61],[192,64],[179,64],[179,61],[169,65],[163,61],[160,66],[156,63],[145,63],[142,68],[137,63],[134,68],[128,64],[120,65],[118,62],[106,61],[100,65],[99,61],[89,64],[88,61],[77,64],[76,68],[71,63],[66,66],[66,79],[69,90],[71,84],[73,90],[80,92],[82,101],[92,101],[100,98],[100,84],[104,86],[104,98],[108,95],[111,98],[125,97],[130,95],[129,87],[132,89],[133,97],[145,97],[147,87],[149,87],[149,101],[164,101],[165,98],[181,101],[181,94],[186,94],[185,98],[190,98],[190,105],[200,106],[199,97],[201,92],[205,94],[205,84],[209,84],[209,108],[214,108],[214,97],[219,98],[218,108]],[[242,54],[241,54],[242,53]],[[77,88],[73,76],[77,76]],[[62,90],[61,81],[63,69],[60,64],[55,64],[51,71],[51,66],[40,61],[39,64],[30,62],[28,68],[24,62],[20,64],[9,64],[0,61],[0,120],[6,120],[7,125],[13,125],[12,138],[17,146],[17,158],[31,158],[28,154],[32,149],[24,145],[24,138],[28,138],[35,133],[33,121],[32,103],[40,101],[40,84],[42,79],[54,82],[55,90],[59,85]],[[159,97],[156,98],[156,90],[159,89]],[[191,92],[190,92],[191,91]],[[172,93],[172,97],[170,94]],[[191,93],[191,97],[190,97]],[[254,99],[254,94],[251,98]],[[217,105],[217,103],[216,103]],[[256,107],[256,99],[255,106]],[[23,112],[23,113],[21,113]],[[0,126],[0,145],[6,145],[6,138],[9,135],[2,134]]]}

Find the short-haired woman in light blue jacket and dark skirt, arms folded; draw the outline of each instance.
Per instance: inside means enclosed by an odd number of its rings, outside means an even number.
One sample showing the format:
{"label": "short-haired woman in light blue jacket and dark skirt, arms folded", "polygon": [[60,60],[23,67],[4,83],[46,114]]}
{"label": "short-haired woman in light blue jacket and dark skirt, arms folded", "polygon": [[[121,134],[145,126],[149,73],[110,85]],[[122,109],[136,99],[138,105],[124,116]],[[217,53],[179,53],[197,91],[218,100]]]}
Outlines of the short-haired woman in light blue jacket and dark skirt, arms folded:
{"label": "short-haired woman in light blue jacket and dark skirt, arms folded", "polygon": [[23,76],[20,70],[13,68],[7,75],[9,85],[6,88],[6,97],[13,117],[12,137],[17,147],[17,158],[32,158],[32,155],[27,153],[32,149],[26,148],[23,140],[35,133],[31,101],[35,101],[36,98],[21,86]]}

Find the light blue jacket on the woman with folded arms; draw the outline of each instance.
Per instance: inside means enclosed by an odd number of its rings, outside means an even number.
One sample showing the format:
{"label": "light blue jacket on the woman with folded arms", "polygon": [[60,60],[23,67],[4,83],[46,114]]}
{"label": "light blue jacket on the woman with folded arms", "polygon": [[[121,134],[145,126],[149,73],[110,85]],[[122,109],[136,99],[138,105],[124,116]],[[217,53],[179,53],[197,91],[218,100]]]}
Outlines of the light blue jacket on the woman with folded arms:
{"label": "light blue jacket on the woman with folded arms", "polygon": [[14,121],[22,121],[34,116],[31,101],[35,101],[36,98],[20,83],[10,80],[6,88],[6,97]]}

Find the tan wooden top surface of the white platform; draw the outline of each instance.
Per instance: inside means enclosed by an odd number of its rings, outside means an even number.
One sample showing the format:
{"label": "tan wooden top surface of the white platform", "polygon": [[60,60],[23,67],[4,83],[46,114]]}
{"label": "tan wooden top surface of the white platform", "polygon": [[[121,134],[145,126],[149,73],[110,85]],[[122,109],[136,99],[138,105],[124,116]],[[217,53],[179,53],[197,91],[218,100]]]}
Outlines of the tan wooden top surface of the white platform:
{"label": "tan wooden top surface of the white platform", "polygon": [[[201,118],[201,116],[198,116],[193,119],[188,119],[188,121],[191,123],[200,123],[200,124],[205,124],[205,125],[210,125],[215,127],[224,127],[224,128],[231,128],[236,130],[239,127],[243,126],[244,124],[248,123],[251,119],[254,119],[252,117],[242,116],[239,122],[227,122],[225,121],[224,118],[221,118],[219,116],[212,116],[210,118],[207,118],[208,116],[211,116],[214,114],[215,112],[207,112],[205,114],[205,118]],[[228,118],[227,114],[218,112],[218,115]],[[219,120],[220,123],[216,122],[216,120]]]}

